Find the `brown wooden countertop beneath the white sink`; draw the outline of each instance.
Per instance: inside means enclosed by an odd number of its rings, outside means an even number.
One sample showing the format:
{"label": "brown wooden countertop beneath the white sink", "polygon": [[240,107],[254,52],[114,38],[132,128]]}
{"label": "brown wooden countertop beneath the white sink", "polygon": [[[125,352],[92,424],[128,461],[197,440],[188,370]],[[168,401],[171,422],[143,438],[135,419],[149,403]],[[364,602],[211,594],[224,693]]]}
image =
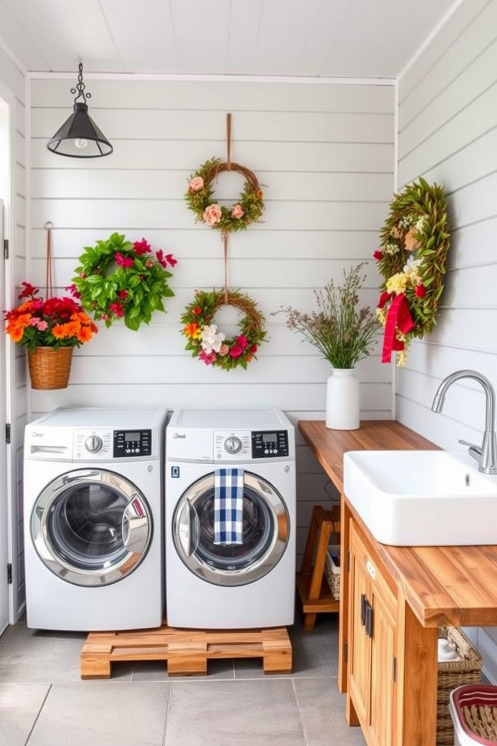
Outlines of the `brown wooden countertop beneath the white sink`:
{"label": "brown wooden countertop beneath the white sink", "polygon": [[[345,451],[437,449],[394,421],[328,430],[323,421],[301,420],[298,427],[340,492]],[[392,547],[376,542],[351,510],[423,627],[497,626],[497,526],[496,546]]]}

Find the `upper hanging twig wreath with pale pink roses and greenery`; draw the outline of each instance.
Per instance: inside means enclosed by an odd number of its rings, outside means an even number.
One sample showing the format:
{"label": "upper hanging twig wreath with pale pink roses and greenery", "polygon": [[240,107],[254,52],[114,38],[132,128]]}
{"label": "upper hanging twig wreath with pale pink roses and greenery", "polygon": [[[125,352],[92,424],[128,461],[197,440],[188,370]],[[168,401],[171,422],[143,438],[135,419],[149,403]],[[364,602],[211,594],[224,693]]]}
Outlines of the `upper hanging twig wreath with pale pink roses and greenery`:
{"label": "upper hanging twig wreath with pale pink roses and greenery", "polygon": [[[238,202],[222,207],[212,198],[212,182],[221,172],[234,171],[244,177],[244,188]],[[220,158],[206,160],[191,174],[185,199],[198,221],[223,233],[245,231],[250,223],[259,222],[264,211],[263,193],[256,175],[239,163],[224,163]]]}

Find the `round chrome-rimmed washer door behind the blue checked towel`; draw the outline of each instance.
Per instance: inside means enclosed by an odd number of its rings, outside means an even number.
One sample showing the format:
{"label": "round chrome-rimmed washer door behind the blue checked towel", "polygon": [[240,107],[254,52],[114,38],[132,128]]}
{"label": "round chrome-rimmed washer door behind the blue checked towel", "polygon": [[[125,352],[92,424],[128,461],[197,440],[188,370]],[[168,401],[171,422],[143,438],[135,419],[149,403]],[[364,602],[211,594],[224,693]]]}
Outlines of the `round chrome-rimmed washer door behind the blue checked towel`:
{"label": "round chrome-rimmed washer door behind the blue checked towel", "polygon": [[268,574],[288,544],[290,520],[282,496],[268,481],[244,472],[244,541],[214,543],[214,472],[194,482],[173,516],[174,546],[197,577],[218,586],[244,586]]}

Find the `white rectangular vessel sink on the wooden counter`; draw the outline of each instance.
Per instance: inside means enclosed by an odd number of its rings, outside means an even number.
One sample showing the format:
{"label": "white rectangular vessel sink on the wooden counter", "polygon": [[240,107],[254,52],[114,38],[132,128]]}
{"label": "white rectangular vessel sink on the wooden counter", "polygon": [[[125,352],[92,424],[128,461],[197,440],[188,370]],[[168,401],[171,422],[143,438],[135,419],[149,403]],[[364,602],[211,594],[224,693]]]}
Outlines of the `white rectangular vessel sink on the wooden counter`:
{"label": "white rectangular vessel sink on the wooden counter", "polygon": [[382,544],[497,544],[497,477],[464,454],[348,451],[344,495]]}

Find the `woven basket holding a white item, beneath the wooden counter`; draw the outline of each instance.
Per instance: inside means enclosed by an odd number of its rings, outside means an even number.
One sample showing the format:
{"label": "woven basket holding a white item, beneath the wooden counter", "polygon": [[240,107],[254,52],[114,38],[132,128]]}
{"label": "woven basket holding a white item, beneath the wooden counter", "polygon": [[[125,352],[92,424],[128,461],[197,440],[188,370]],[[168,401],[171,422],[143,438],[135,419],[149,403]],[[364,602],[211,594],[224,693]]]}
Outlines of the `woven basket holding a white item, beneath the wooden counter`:
{"label": "woven basket holding a white item, beneath the wooden counter", "polygon": [[481,680],[481,655],[460,627],[441,627],[439,636],[452,645],[460,660],[438,662],[437,680],[437,746],[454,746],[454,723],[449,712],[452,689]]}

